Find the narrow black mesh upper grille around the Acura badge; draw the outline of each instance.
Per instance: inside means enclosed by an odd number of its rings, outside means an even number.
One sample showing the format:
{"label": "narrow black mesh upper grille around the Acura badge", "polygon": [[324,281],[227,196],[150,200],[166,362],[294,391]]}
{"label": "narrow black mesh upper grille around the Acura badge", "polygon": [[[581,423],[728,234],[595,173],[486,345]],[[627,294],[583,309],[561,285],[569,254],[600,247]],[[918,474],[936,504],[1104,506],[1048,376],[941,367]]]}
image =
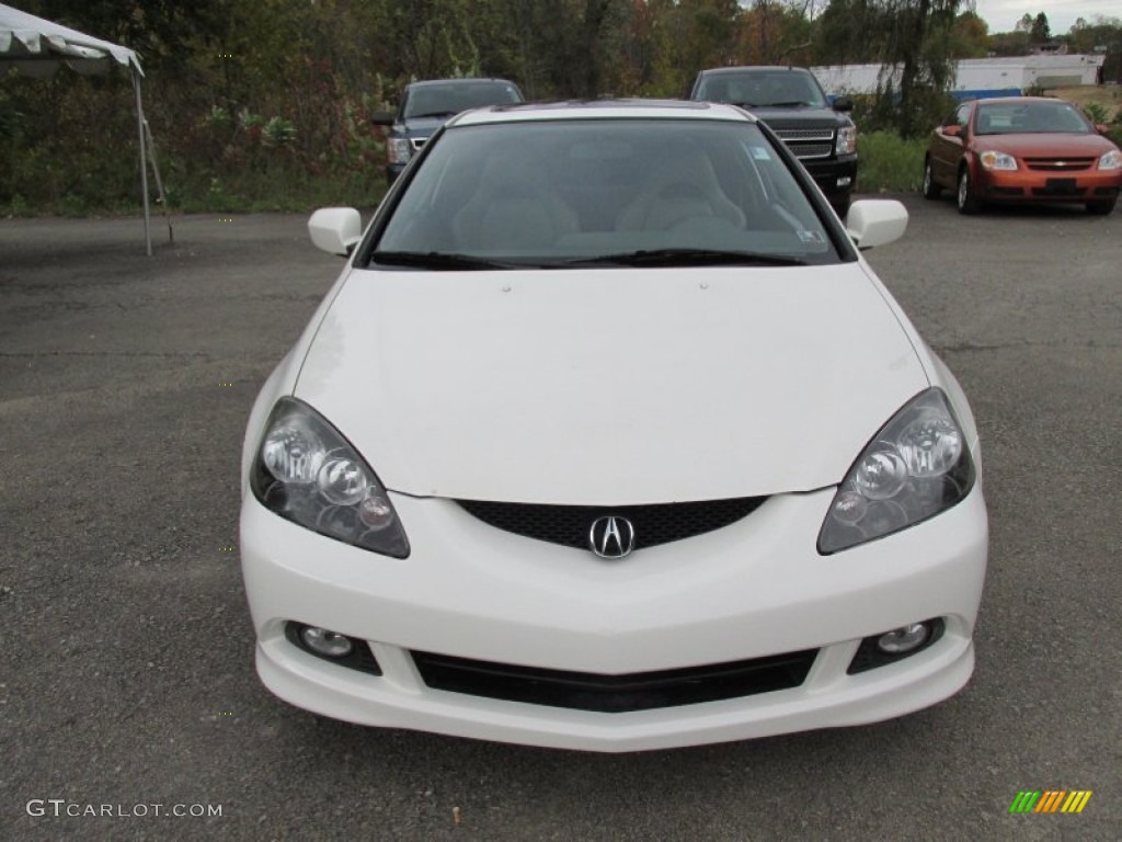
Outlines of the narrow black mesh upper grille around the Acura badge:
{"label": "narrow black mesh upper grille around the Acura badge", "polygon": [[695,503],[652,503],[629,506],[555,506],[536,503],[493,503],[460,500],[469,514],[485,523],[564,547],[590,549],[592,522],[615,515],[631,521],[635,532],[635,549],[712,532],[761,506],[766,497],[735,497]]}

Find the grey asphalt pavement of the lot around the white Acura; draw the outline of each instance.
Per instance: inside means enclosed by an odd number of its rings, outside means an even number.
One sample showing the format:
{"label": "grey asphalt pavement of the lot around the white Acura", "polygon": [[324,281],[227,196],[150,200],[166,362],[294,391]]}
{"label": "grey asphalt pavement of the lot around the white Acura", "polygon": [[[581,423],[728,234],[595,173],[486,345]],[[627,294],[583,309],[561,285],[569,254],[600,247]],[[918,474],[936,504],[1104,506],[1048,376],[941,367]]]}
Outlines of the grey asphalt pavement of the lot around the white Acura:
{"label": "grey asphalt pavement of the lot around the white Acura", "polygon": [[[364,729],[258,681],[243,427],[342,266],[304,217],[157,221],[150,258],[137,220],[0,220],[0,840],[1122,839],[1122,211],[903,201],[870,260],[983,436],[974,678],[631,756]],[[1009,813],[1037,789],[1093,795]]]}

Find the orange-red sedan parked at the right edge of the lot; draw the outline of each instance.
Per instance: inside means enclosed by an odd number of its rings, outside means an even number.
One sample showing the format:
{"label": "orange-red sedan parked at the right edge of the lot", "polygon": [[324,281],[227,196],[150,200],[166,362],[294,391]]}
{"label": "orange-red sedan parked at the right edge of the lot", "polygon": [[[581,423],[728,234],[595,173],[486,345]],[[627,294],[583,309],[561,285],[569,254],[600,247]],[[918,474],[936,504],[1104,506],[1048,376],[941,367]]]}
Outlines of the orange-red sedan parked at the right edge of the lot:
{"label": "orange-red sedan parked at the right edge of the lot", "polygon": [[999,202],[1079,202],[1110,213],[1122,187],[1122,152],[1103,131],[1063,100],[964,102],[931,132],[923,195],[954,190],[963,213]]}

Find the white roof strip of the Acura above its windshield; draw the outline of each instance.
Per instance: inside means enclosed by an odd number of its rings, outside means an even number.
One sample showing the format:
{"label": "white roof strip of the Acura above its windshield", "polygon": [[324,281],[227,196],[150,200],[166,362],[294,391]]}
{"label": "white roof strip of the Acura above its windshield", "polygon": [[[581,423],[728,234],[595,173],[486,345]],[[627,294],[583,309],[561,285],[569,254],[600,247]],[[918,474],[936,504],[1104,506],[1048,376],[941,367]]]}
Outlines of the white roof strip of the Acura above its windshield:
{"label": "white roof strip of the Acura above its windshield", "polygon": [[453,118],[453,126],[482,123],[526,122],[545,120],[604,120],[604,119],[660,119],[660,120],[732,120],[756,122],[756,118],[735,107],[716,102],[688,100],[587,100],[570,102],[526,102],[493,106],[466,111]]}

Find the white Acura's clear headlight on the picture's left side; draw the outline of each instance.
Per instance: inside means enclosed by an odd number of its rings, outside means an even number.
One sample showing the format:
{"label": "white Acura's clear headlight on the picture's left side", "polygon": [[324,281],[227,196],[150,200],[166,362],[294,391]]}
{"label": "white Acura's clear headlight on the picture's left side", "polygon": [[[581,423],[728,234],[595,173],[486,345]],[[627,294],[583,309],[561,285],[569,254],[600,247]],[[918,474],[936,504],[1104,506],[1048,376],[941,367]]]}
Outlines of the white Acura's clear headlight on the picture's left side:
{"label": "white Acura's clear headlight on the picture's left side", "polygon": [[254,496],[282,518],[362,549],[410,555],[389,495],[362,457],[311,406],[273,409],[249,477]]}

